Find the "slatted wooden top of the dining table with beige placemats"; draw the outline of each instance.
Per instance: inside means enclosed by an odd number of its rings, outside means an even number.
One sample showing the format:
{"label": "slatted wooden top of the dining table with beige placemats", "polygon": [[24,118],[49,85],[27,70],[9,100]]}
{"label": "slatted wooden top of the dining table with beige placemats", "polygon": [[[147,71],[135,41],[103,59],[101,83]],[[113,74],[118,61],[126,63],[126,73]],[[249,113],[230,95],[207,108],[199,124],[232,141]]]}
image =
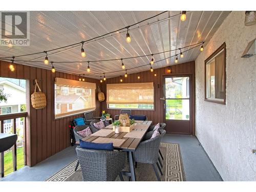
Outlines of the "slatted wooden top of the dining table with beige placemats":
{"label": "slatted wooden top of the dining table with beige placemats", "polygon": [[[151,124],[152,124],[152,121],[136,121],[135,127],[131,132],[120,132],[116,134],[114,131],[112,131],[110,134],[104,137],[90,135],[90,136],[87,136],[86,138],[83,138],[82,140],[88,141],[88,142],[95,141],[100,143],[113,142],[115,150],[135,151],[140,141],[146,134],[148,127],[150,127]],[[113,129],[112,124],[104,128],[104,130],[112,130],[112,129]],[[125,136],[126,134],[128,134],[127,137]],[[100,135],[100,134],[97,134],[97,135]],[[77,142],[77,144],[79,144],[79,142]]]}

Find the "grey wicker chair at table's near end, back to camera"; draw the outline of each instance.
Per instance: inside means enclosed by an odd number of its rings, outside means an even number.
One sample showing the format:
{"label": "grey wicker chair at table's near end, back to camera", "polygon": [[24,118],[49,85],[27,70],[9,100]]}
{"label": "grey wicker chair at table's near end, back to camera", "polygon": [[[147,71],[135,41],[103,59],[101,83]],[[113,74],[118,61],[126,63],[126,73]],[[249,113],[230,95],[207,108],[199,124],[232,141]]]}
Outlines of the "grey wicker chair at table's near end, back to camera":
{"label": "grey wicker chair at table's near end, back to camera", "polygon": [[120,151],[88,150],[76,147],[83,181],[115,181],[124,168],[126,153]]}

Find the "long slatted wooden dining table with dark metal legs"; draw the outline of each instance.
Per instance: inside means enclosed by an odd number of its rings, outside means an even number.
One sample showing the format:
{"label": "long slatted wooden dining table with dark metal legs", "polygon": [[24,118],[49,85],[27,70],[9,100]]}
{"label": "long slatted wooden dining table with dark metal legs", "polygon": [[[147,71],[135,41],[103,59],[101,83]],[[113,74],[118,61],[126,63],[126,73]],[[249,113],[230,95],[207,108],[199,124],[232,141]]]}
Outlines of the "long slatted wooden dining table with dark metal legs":
{"label": "long slatted wooden dining table with dark metal legs", "polygon": [[[94,143],[112,142],[114,150],[127,152],[129,160],[129,171],[123,171],[122,175],[131,177],[131,181],[136,181],[133,163],[133,152],[135,152],[151,124],[152,121],[135,121],[135,126],[130,132],[119,133],[115,133],[113,131],[113,125],[110,124],[101,130],[83,138],[82,140]],[[79,142],[76,144],[79,144]]]}

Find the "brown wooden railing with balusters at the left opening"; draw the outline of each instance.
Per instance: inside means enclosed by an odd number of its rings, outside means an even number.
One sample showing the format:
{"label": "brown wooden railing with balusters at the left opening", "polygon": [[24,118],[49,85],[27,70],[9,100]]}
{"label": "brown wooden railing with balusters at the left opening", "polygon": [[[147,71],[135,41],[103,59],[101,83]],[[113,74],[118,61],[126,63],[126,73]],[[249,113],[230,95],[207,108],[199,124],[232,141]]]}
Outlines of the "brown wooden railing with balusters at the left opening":
{"label": "brown wooden railing with balusters at the left opening", "polygon": [[[18,118],[24,118],[24,136],[23,136],[23,150],[24,154],[26,154],[26,144],[25,144],[25,138],[26,138],[26,117],[28,113],[22,112],[22,113],[12,113],[12,114],[6,114],[6,115],[0,115],[0,121],[1,121],[1,132],[4,133],[4,120],[13,120],[13,134],[16,134],[16,119]],[[12,146],[12,163],[13,163],[13,172],[17,170],[17,146],[16,143]],[[26,157],[24,155],[24,164],[26,165]],[[5,168],[4,168],[4,152],[0,153],[0,176],[4,177],[5,174]]]}

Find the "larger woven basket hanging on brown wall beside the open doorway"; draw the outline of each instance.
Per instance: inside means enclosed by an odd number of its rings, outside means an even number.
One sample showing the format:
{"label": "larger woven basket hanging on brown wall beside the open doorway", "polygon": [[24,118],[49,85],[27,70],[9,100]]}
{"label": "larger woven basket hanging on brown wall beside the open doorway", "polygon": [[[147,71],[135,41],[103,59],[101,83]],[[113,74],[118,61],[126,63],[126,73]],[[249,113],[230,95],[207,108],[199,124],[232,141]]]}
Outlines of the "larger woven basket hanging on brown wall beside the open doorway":
{"label": "larger woven basket hanging on brown wall beside the open doorway", "polygon": [[[37,82],[37,79],[35,79],[35,91],[31,94],[31,104],[35,109],[42,109],[46,106],[46,95],[41,92]],[[36,88],[39,92],[36,92]]]}

